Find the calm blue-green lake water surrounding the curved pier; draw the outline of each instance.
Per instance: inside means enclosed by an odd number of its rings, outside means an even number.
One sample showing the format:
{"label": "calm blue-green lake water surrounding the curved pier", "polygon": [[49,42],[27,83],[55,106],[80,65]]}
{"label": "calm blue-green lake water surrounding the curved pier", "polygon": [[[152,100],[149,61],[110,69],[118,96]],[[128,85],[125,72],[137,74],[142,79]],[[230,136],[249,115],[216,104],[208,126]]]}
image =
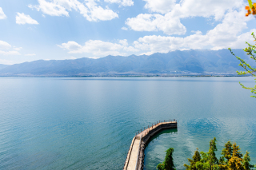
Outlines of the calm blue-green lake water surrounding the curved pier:
{"label": "calm blue-green lake water surrounding the curved pier", "polygon": [[138,129],[178,120],[146,147],[145,169],[166,150],[184,169],[196,148],[227,140],[256,164],[253,77],[2,77],[0,169],[122,169]]}

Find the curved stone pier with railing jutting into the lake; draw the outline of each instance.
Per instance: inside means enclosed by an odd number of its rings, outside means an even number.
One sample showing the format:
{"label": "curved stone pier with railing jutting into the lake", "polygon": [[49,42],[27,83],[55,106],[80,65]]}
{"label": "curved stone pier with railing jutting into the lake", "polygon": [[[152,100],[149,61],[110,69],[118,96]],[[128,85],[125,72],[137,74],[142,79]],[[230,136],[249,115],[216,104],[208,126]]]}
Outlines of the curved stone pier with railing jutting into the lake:
{"label": "curved stone pier with railing jutting into the lake", "polygon": [[130,144],[130,149],[126,157],[126,162],[123,167],[124,170],[137,170],[143,169],[144,162],[144,148],[150,136],[161,131],[164,128],[177,128],[177,121],[163,121],[152,125],[145,130],[141,130]]}

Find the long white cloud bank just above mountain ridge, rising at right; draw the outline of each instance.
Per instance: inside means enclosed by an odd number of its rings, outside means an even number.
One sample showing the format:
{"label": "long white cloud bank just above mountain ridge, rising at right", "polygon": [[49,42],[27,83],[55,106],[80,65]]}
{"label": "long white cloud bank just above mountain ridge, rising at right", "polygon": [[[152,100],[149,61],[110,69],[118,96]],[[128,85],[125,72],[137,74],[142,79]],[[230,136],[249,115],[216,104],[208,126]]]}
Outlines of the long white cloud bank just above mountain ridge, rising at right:
{"label": "long white cloud bank just above mountain ridge, rising at right", "polygon": [[[246,18],[244,11],[230,10],[222,19],[222,22],[209,30],[206,34],[202,34],[200,30],[191,31],[191,34],[186,37],[174,36],[157,36],[150,35],[138,38],[133,45],[129,45],[127,40],[119,40],[116,43],[102,42],[100,40],[90,40],[85,45],[80,45],[77,42],[66,42],[58,45],[63,49],[67,49],[68,53],[92,53],[95,57],[104,57],[107,55],[126,55],[126,53],[141,53],[150,55],[152,53],[168,53],[174,50],[187,49],[227,49],[244,48],[245,42],[253,43],[250,30],[247,33],[242,33],[247,28],[246,22],[254,19],[250,16]],[[138,26],[139,27],[139,26]],[[150,27],[150,26],[148,26]],[[149,30],[152,27],[148,28]],[[158,29],[154,28],[153,29]]]}

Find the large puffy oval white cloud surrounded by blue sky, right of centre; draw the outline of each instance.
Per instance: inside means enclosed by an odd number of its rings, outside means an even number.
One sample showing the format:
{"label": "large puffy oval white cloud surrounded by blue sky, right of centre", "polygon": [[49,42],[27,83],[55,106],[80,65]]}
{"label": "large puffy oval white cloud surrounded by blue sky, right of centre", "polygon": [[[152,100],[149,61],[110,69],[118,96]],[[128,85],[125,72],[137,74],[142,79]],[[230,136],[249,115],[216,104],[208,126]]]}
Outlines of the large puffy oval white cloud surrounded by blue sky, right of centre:
{"label": "large puffy oval white cloud surrounded by blue sky, right of centre", "polygon": [[128,18],[126,25],[136,31],[158,31],[165,34],[185,34],[186,27],[182,25],[179,18],[166,14],[139,14],[136,18]]}

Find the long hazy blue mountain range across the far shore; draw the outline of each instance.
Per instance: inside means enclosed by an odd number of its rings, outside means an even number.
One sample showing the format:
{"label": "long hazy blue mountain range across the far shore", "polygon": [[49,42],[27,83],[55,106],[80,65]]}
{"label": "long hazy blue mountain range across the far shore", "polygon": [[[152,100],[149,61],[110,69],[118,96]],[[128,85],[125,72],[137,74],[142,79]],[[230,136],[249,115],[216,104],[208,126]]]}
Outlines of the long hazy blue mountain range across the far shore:
{"label": "long hazy blue mountain range across the far shore", "polygon": [[[253,60],[242,49],[234,53]],[[0,76],[235,75],[239,61],[228,49],[186,50],[129,57],[31,61],[0,69]]]}

